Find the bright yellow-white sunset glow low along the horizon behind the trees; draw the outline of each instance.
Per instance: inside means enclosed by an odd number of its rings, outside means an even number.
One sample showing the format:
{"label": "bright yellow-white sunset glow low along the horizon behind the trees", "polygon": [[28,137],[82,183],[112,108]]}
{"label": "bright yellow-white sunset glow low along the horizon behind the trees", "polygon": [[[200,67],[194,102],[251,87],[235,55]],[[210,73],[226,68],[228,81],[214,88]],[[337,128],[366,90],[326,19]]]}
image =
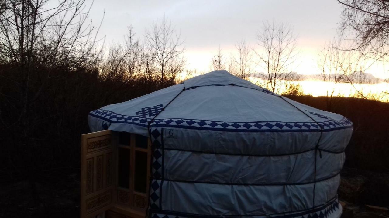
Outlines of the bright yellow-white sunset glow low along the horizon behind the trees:
{"label": "bright yellow-white sunset glow low along the horizon behind the trees", "polygon": [[[253,49],[255,50],[255,45],[253,45]],[[224,49],[223,51],[227,57],[231,55],[236,55],[236,51],[234,50],[233,46],[228,49]],[[209,71],[213,70],[211,67],[211,62],[212,53],[214,52],[215,51],[212,50],[194,50],[186,52],[189,69],[193,69],[196,71],[195,73],[192,73],[192,76],[208,73]],[[261,66],[261,64],[258,64],[258,60],[255,60],[253,62],[253,73],[265,71],[264,67]],[[291,69],[302,75],[319,74],[321,73],[321,69],[319,69],[318,67],[318,62],[319,48],[313,49],[306,47],[306,49],[304,49],[303,47],[299,52],[298,57],[293,63]],[[360,64],[361,66],[369,66],[366,67],[366,70],[364,72],[373,75],[375,78],[377,78],[377,80],[379,80],[379,82],[375,84],[334,84],[320,80],[303,80],[298,82],[288,81],[288,83],[293,85],[299,85],[305,95],[312,95],[315,97],[327,96],[331,95],[331,93],[333,96],[362,97],[362,94],[364,97],[367,97],[369,99],[388,102],[389,95],[386,93],[389,93],[389,83],[385,82],[385,80],[388,78],[387,64],[383,62],[372,63],[371,61]],[[228,68],[226,68],[226,70],[228,70]],[[181,80],[183,80],[185,77],[186,73],[182,73],[179,76]],[[265,81],[260,81],[256,77],[251,77],[250,81],[258,85],[266,83]],[[264,87],[266,88],[266,85],[264,85]],[[277,93],[283,93],[285,91],[285,84],[280,85],[277,89]]]}

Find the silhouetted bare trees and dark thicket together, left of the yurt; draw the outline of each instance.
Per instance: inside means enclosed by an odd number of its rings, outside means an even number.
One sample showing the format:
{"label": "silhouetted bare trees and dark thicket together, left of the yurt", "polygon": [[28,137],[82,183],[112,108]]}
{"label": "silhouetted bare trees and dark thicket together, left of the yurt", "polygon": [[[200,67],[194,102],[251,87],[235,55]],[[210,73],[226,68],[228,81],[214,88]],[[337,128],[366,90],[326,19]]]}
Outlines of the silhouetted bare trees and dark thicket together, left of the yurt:
{"label": "silhouetted bare trees and dark thicket together, left of the yurt", "polygon": [[89,111],[173,85],[184,64],[166,19],[107,47],[84,0],[48,2],[0,2],[0,170],[33,196],[41,173],[79,168]]}

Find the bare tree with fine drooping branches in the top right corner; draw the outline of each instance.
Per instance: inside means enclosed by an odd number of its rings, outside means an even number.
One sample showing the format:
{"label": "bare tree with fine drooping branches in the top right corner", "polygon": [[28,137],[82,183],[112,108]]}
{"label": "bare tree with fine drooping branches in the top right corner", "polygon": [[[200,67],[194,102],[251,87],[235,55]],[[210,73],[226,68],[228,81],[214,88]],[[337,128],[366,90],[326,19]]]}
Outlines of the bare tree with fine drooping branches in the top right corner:
{"label": "bare tree with fine drooping branches in the top right corner", "polygon": [[338,50],[341,56],[354,59],[343,62],[341,67],[348,71],[346,78],[358,92],[358,96],[367,99],[354,83],[372,82],[364,72],[374,64],[389,61],[389,4],[385,0],[338,2],[344,6],[339,38],[347,42],[338,47]]}

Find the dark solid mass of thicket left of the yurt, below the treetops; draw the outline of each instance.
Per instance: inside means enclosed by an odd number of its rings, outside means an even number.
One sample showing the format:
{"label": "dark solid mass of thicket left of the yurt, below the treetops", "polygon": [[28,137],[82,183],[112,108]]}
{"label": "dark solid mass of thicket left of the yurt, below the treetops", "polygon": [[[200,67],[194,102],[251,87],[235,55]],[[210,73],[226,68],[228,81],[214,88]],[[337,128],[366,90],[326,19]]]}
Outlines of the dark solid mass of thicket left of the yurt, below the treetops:
{"label": "dark solid mass of thicket left of the yurt, below the treetops", "polygon": [[[34,73],[29,78],[29,93],[37,97],[28,102],[26,115],[21,116],[25,107],[20,100],[18,68],[0,65],[0,75],[7,78],[0,80],[3,148],[0,160],[2,166],[15,172],[78,168],[80,135],[88,132],[89,111],[162,88],[159,80],[144,75],[125,81],[108,80],[101,78],[95,69],[52,69],[51,76],[42,81],[48,69],[37,66],[31,69]],[[42,94],[37,95],[38,92]]]}

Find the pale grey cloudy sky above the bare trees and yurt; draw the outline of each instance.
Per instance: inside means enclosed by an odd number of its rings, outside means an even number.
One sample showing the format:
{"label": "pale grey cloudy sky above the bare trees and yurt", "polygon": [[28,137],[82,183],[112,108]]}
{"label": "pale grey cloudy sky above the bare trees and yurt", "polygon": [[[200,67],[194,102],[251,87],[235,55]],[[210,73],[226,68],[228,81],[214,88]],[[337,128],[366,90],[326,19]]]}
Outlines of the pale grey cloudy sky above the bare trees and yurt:
{"label": "pale grey cloudy sky above the bare trees and yurt", "polygon": [[100,33],[107,43],[123,41],[130,25],[142,40],[145,29],[165,15],[181,33],[188,68],[204,72],[219,45],[226,55],[242,39],[258,48],[256,33],[263,21],[287,22],[300,49],[292,70],[315,74],[318,51],[336,35],[342,5],[336,0],[95,0],[93,22],[98,23],[104,10]]}

